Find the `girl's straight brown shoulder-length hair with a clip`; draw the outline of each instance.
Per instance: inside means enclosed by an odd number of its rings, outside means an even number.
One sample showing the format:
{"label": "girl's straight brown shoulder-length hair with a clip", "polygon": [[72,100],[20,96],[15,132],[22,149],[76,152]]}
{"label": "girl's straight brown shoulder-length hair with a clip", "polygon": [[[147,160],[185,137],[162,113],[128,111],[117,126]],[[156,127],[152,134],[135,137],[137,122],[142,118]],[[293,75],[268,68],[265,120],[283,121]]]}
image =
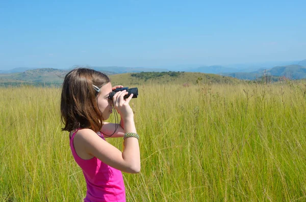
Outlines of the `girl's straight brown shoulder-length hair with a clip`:
{"label": "girl's straight brown shoulder-length hair with a clip", "polygon": [[97,132],[104,124],[97,105],[98,88],[110,82],[107,75],[93,69],[78,68],[66,74],[61,95],[62,130],[90,128]]}

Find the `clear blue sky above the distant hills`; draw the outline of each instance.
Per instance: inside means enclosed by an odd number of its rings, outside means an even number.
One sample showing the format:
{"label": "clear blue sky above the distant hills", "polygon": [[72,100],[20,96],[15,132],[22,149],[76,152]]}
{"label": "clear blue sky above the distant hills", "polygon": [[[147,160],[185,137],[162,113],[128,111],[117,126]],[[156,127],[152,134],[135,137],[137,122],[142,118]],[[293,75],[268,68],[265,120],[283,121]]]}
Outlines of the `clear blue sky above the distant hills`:
{"label": "clear blue sky above the distant hills", "polygon": [[0,69],[306,59],[306,1],[1,1]]}

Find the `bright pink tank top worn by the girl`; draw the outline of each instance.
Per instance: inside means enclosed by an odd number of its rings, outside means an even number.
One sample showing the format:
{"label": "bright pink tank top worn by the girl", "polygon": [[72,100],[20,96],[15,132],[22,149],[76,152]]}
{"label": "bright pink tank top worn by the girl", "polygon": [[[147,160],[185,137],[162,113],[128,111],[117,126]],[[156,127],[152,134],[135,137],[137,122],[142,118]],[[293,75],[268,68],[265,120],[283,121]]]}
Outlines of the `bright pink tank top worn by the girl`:
{"label": "bright pink tank top worn by the girl", "polygon": [[[70,138],[70,149],[74,160],[82,168],[86,180],[87,192],[84,201],[125,202],[125,189],[121,171],[105,164],[96,157],[84,160],[75,152],[73,138],[78,130]],[[104,139],[103,134],[98,133],[97,135]]]}

